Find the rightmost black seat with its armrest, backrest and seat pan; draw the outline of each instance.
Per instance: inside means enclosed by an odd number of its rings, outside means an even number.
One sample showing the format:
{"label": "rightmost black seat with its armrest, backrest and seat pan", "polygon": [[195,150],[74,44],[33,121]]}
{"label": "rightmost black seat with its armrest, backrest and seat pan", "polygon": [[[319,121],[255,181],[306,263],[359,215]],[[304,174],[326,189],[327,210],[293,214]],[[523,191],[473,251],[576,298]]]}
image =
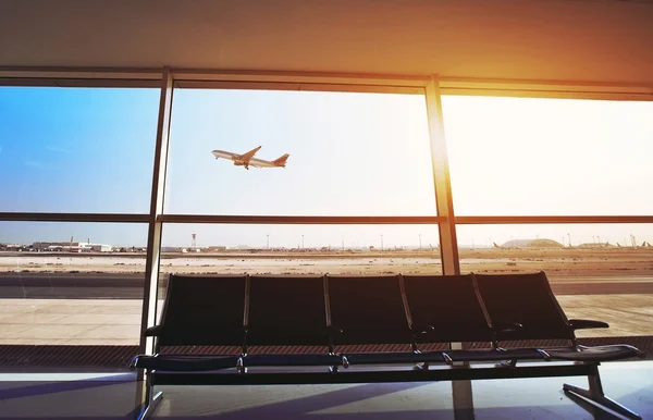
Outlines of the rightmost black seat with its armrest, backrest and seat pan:
{"label": "rightmost black seat with its armrest, backrest and seat pan", "polygon": [[608,328],[591,320],[568,320],[543,271],[527,274],[475,274],[475,281],[486,308],[490,322],[519,324],[498,333],[502,341],[569,339],[564,348],[544,349],[552,359],[605,361],[643,357],[628,345],[584,347],[576,344],[576,330]]}

